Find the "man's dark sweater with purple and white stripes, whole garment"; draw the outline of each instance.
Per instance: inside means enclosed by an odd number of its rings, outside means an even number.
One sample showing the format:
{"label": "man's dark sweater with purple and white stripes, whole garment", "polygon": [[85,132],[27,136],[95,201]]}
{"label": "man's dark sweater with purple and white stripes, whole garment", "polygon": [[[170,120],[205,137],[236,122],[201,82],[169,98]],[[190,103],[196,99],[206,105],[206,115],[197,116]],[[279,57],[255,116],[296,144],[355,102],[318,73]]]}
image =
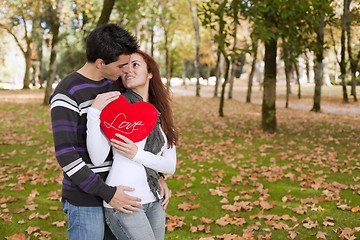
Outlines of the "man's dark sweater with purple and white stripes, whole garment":
{"label": "man's dark sweater with purple and white stripes, whole garment", "polygon": [[56,159],[64,171],[62,201],[77,206],[102,206],[116,188],[105,184],[112,152],[99,166],[86,149],[87,111],[99,93],[119,91],[111,80],[93,81],[73,72],[60,81],[50,98]]}

